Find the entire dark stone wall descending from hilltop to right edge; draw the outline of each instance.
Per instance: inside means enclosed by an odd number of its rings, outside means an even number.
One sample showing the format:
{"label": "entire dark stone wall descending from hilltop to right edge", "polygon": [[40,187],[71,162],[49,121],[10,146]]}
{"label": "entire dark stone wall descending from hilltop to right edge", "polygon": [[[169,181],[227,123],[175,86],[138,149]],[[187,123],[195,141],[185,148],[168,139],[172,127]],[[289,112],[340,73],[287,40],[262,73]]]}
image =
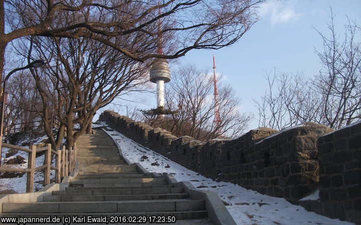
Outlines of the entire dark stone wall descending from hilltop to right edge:
{"label": "entire dark stone wall descending from hilltop to right edge", "polygon": [[[201,142],[190,136],[176,137],[111,110],[104,111],[99,120],[215,180],[292,202],[317,189],[320,182],[322,208],[317,212],[349,221],[360,214],[359,124],[332,133],[329,127],[312,122],[282,132],[262,127],[232,140]],[[338,210],[342,212],[334,213]]]}

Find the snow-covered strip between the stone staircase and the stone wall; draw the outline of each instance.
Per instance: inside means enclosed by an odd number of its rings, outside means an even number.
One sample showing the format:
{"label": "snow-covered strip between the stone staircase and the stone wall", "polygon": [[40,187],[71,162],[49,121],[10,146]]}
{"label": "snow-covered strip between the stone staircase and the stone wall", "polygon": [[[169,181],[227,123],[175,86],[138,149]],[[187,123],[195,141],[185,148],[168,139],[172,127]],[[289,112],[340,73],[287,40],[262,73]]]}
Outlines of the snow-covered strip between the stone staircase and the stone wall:
{"label": "snow-covered strip between the stone staircase and the stone wall", "polygon": [[[190,181],[201,190],[217,192],[222,200],[230,204],[226,207],[237,224],[352,224],[306,211],[284,198],[260,194],[230,182],[214,181],[143,147],[115,130],[109,130],[113,129],[104,129],[119,143],[120,153],[131,163],[139,162],[149,172],[167,172],[178,181]],[[151,165],[154,162],[159,165]]]}

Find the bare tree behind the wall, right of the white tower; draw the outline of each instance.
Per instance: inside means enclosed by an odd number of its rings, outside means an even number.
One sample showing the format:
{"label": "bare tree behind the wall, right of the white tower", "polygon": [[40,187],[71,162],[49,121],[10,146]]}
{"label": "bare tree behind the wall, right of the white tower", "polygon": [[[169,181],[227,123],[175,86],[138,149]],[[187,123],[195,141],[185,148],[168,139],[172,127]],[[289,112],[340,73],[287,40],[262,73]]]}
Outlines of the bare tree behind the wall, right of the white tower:
{"label": "bare tree behind the wall, right of the white tower", "polygon": [[164,118],[167,121],[161,121],[163,128],[177,136],[189,135],[200,140],[235,137],[247,128],[251,116],[239,112],[240,99],[230,86],[219,85],[220,122],[214,122],[213,79],[208,71],[188,65],[173,74],[165,94],[171,113]]}

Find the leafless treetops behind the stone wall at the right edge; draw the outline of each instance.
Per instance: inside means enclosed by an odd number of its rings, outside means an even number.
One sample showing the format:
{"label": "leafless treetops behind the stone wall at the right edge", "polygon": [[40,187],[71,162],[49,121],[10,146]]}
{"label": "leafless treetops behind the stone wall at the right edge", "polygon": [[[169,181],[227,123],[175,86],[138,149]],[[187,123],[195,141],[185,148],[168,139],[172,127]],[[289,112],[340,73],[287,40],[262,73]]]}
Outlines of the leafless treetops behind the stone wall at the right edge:
{"label": "leafless treetops behind the stone wall at the right edge", "polygon": [[283,129],[314,121],[340,128],[361,118],[360,26],[348,19],[341,39],[333,19],[331,11],[329,35],[318,32],[323,49],[316,49],[322,65],[317,75],[267,73],[269,89],[256,101],[260,126]]}

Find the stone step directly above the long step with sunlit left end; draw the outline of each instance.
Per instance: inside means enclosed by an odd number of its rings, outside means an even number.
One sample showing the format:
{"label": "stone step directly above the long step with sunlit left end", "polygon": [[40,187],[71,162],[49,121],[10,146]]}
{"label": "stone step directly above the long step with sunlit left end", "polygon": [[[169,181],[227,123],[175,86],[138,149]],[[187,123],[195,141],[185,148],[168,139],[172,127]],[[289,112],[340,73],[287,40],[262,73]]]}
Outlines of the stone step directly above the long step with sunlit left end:
{"label": "stone step directly above the long step with sunlit left end", "polygon": [[124,194],[124,195],[47,195],[44,201],[115,201],[115,200],[159,200],[188,198],[187,193]]}

